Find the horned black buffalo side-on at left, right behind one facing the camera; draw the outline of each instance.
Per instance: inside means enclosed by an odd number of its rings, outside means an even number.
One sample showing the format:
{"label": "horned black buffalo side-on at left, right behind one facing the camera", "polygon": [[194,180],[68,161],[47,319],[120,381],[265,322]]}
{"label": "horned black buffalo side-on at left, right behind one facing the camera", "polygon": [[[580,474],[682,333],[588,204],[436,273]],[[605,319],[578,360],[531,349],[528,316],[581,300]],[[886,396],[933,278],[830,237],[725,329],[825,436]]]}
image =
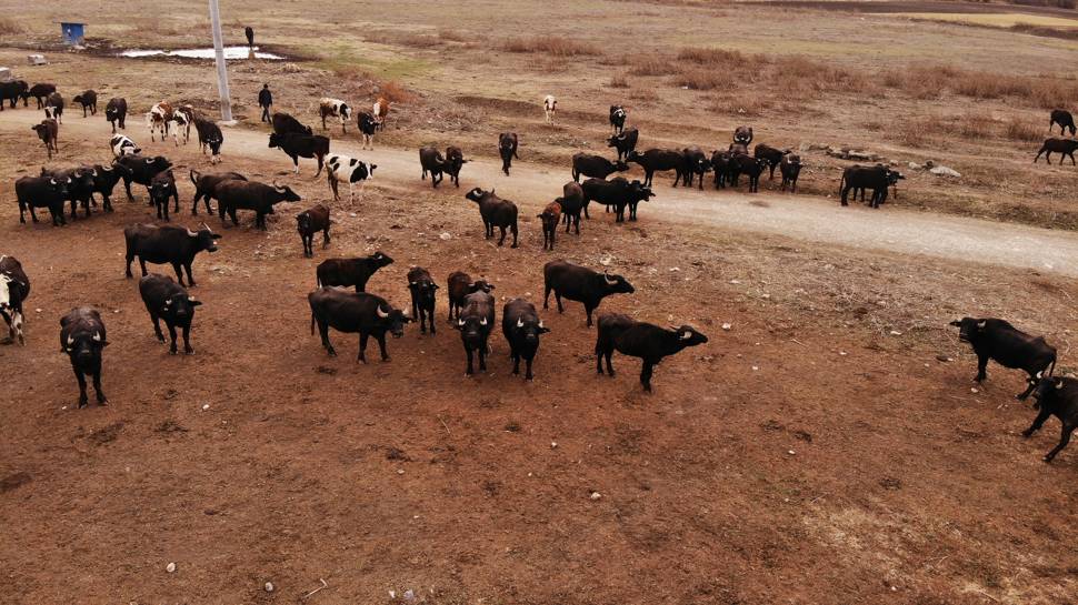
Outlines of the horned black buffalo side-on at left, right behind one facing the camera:
{"label": "horned black buffalo side-on at left, right behind one facing the camera", "polygon": [[170,264],[176,271],[180,285],[183,285],[181,270],[187,270],[187,285],[194,288],[194,275],[191,274],[194,256],[203,250],[217,252],[217,240],[220,238],[210,231],[206,223],[202,223],[198,231],[177,225],[158,226],[136,223],[127,226],[123,230],[123,240],[127,244],[124,275],[128,279],[131,278],[131,261],[138,256],[143,278],[148,274],[146,263]]}

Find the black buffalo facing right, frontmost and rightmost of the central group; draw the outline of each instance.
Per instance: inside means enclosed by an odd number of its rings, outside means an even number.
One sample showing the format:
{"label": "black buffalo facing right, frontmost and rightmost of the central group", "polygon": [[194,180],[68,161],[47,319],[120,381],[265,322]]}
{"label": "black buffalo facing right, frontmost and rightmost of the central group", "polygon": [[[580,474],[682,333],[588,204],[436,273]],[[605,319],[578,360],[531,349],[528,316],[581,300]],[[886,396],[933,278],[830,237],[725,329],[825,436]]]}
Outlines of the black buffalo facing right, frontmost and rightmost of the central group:
{"label": "black buffalo facing right, frontmost and rightmost of the central group", "polygon": [[596,336],[596,372],[602,374],[602,361],[607,361],[607,374],[613,376],[613,365],[610,360],[613,352],[622,355],[640,357],[640,384],[643,390],[651,391],[651,375],[655,366],[663,357],[679,353],[688,346],[696,346],[708,342],[708,337],[697,332],[690,325],[671,326],[670,330],[658,325],[638,322],[620,313],[607,313],[599,317],[599,330]]}

